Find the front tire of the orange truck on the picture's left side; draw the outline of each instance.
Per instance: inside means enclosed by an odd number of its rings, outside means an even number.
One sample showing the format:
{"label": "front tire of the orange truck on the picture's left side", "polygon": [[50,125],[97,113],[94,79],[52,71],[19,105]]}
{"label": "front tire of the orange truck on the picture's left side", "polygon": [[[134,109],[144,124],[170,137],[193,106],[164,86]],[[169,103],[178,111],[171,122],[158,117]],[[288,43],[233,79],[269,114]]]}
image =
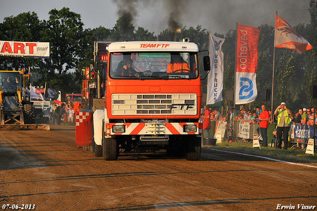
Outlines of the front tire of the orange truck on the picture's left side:
{"label": "front tire of the orange truck on the picture's left side", "polygon": [[119,145],[115,139],[103,136],[103,157],[104,160],[116,160],[119,155]]}

